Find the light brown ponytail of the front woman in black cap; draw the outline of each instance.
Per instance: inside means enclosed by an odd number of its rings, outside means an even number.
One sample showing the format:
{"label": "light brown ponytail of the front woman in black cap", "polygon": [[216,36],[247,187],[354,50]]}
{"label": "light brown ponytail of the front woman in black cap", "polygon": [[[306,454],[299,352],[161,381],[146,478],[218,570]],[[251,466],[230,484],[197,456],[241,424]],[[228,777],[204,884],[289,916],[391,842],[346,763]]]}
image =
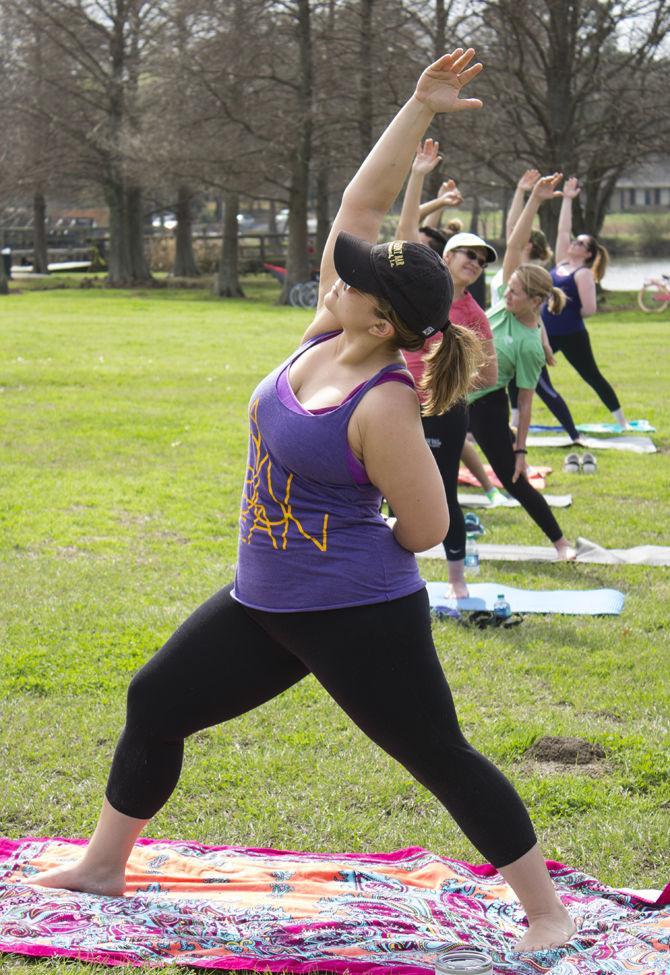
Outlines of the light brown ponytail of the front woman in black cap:
{"label": "light brown ponytail of the front woman in black cap", "polygon": [[468,328],[449,325],[426,355],[425,371],[419,389],[426,393],[422,413],[445,413],[472,389],[472,382],[483,364],[483,347]]}

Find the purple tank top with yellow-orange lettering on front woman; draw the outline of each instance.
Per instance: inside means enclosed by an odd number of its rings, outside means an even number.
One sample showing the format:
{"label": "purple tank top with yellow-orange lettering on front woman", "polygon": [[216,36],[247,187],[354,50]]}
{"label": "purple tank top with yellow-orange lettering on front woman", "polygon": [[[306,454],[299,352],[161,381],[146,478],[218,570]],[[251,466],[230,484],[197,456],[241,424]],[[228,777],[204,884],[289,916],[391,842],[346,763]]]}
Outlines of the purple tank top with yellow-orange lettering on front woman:
{"label": "purple tank top with yellow-orange lettering on front woman", "polygon": [[381,494],[352,454],[347,428],[390,365],[340,403],[310,413],[288,382],[301,346],[254,390],[249,403],[249,455],[242,492],[233,596],[274,613],[384,602],[423,587],[416,559],[396,542],[379,513]]}

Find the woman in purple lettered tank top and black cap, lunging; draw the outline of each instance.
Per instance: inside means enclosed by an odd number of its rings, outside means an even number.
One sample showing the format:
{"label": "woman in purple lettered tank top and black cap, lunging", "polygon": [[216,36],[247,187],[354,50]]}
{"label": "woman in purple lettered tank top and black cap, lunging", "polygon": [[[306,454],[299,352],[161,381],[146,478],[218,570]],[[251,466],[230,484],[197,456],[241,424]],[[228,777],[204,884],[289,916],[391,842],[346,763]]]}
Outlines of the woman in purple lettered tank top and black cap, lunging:
{"label": "woman in purple lettered tank top and black cap, lunging", "polygon": [[35,883],[120,895],[135,840],[177,785],[184,739],[312,673],[501,870],[528,915],[519,949],[572,936],[521,799],[459,727],[413,554],[442,540],[449,516],[401,350],[443,333],[424,382],[425,409],[440,412],[465,395],[479,343],[449,323],[453,287],[434,251],[374,243],[433,115],[480,107],[459,97],[481,70],[473,57],[459,48],[424,71],[345,190],[316,318],[249,403],[234,587],[135,675],[94,836]]}

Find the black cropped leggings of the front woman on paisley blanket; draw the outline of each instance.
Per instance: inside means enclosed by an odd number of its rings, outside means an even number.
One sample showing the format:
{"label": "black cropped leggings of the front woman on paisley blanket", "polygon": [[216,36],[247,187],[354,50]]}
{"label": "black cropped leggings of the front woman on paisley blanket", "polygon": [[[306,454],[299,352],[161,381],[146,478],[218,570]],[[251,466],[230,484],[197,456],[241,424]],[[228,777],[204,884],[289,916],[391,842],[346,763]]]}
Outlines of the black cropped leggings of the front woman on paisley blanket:
{"label": "black cropped leggings of the front woman on paisley blanket", "polygon": [[267,613],[237,603],[231,588],[197,609],[131,681],[107,785],[116,810],[149,819],[177,785],[188,735],[244,714],[312,673],[491,863],[505,866],[534,846],[514,788],[460,730],[425,589],[369,606]]}

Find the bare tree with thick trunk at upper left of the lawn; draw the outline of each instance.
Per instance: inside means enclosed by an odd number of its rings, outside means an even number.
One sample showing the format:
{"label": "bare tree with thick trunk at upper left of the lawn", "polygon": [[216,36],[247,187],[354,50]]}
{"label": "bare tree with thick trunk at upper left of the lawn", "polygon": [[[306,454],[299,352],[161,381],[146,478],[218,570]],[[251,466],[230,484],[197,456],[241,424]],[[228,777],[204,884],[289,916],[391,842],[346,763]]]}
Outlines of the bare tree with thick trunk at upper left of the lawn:
{"label": "bare tree with thick trunk at upper left of the lawn", "polygon": [[110,213],[109,280],[148,281],[144,254],[142,70],[160,27],[157,0],[26,0],[26,24],[57,52],[48,65],[58,98],[39,86],[33,118],[48,118],[76,147],[81,182],[102,188]]}

